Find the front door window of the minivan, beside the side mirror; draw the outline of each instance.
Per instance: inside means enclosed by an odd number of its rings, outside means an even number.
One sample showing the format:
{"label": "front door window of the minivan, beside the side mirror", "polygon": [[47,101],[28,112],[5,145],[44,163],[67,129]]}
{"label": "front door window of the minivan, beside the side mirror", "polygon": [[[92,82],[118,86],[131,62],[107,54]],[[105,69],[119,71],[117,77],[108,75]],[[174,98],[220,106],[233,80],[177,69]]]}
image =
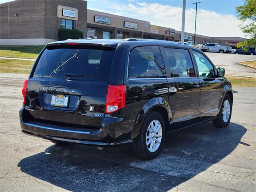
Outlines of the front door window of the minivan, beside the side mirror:
{"label": "front door window of the minivan, beside the side mirror", "polygon": [[196,58],[196,64],[198,67],[199,77],[214,77],[214,67],[208,61],[208,59],[199,52],[193,51]]}

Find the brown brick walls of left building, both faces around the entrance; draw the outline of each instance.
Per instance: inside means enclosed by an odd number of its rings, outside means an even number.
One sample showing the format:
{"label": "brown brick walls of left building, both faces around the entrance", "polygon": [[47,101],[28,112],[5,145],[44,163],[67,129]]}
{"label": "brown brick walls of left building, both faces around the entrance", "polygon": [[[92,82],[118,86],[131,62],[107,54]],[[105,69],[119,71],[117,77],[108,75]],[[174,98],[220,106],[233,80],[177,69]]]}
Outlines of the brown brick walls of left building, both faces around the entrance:
{"label": "brown brick walls of left building, both faces around the entrance", "polygon": [[[76,28],[86,37],[87,2],[84,0],[16,0],[0,4],[0,38],[57,39],[57,5],[78,9]],[[18,14],[18,16],[14,16]]]}

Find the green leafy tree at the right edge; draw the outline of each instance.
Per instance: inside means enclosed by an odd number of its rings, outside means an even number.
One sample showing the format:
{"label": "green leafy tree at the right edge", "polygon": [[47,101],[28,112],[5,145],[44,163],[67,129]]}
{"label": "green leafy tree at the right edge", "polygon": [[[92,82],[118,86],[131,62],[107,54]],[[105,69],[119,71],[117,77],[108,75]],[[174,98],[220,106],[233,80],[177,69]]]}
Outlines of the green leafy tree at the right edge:
{"label": "green leafy tree at the right edge", "polygon": [[256,46],[256,0],[244,0],[244,5],[236,8],[238,19],[249,24],[241,25],[242,31],[250,39],[237,44],[237,47],[245,46],[247,48]]}

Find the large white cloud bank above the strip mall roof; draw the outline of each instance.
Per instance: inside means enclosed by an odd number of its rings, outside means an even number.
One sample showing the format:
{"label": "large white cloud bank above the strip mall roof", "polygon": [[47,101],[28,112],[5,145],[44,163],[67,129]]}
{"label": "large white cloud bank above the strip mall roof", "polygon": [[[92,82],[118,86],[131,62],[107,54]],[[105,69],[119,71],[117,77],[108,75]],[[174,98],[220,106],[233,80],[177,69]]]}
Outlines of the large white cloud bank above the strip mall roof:
{"label": "large white cloud bank above the strip mall roof", "polygon": [[[129,4],[114,3],[105,10],[112,14],[150,21],[151,24],[181,30],[182,8],[158,3],[129,0]],[[195,9],[186,9],[185,32],[194,33]],[[198,9],[196,33],[206,36],[245,37],[239,25],[241,22],[231,14],[219,14]]]}

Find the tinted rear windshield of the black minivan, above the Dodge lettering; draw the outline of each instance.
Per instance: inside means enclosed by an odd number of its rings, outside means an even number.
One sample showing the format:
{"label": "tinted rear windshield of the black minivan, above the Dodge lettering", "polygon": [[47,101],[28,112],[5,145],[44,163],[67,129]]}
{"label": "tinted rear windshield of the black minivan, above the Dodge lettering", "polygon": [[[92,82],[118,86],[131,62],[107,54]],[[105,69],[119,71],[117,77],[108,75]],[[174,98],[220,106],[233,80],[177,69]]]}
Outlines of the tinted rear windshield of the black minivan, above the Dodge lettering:
{"label": "tinted rear windshield of the black minivan, above the Dodge lettering", "polygon": [[[76,53],[77,56],[75,56]],[[50,78],[70,76],[71,78],[73,75],[72,78],[75,78],[74,75],[78,75],[78,79],[108,81],[113,54],[112,48],[47,47],[38,61],[33,76]]]}

